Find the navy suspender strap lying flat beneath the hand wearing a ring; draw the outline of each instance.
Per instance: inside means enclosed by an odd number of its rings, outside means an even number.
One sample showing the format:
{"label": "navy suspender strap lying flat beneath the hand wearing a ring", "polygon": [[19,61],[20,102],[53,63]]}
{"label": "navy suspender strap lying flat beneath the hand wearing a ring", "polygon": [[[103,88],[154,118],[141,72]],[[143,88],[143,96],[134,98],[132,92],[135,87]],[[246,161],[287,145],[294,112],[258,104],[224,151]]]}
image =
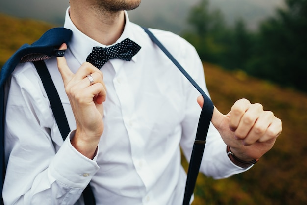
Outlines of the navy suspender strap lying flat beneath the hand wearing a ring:
{"label": "navy suspender strap lying flat beneath the hand wearing a ring", "polygon": [[[50,76],[50,73],[47,69],[45,62],[43,60],[40,60],[40,61],[34,61],[33,64],[37,70],[38,75],[40,76],[43,82],[43,86],[49,98],[50,106],[51,106],[55,121],[60,130],[63,140],[65,140],[68,133],[70,132],[70,128],[68,125],[67,117],[64,112],[64,108],[62,106],[61,99],[58,95],[58,92],[56,91],[56,88],[54,86],[54,83],[52,81],[52,78]],[[88,184],[87,187],[83,191],[83,199],[84,199],[85,205],[96,205],[95,197],[94,197],[90,184]]]}

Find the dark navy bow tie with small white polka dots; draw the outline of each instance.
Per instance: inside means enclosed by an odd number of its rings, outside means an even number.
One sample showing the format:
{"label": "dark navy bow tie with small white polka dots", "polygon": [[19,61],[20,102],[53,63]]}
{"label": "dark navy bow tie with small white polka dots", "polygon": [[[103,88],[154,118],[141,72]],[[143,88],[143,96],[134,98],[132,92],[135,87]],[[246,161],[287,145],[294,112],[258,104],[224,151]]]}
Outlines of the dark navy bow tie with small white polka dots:
{"label": "dark navy bow tie with small white polka dots", "polygon": [[94,47],[93,51],[86,58],[87,62],[92,63],[100,69],[109,59],[122,59],[131,61],[132,57],[141,49],[137,43],[126,38],[122,42],[108,48]]}

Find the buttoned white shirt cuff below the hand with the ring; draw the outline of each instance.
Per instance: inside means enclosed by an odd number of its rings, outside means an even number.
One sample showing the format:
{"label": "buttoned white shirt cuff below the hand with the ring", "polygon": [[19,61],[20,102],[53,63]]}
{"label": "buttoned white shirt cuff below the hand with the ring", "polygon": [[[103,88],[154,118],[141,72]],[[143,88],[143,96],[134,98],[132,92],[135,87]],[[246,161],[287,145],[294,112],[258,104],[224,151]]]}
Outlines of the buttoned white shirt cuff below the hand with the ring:
{"label": "buttoned white shirt cuff below the hand with the ring", "polygon": [[99,170],[96,163],[97,154],[94,160],[91,160],[78,152],[70,141],[74,133],[75,131],[72,131],[68,135],[55,154],[49,166],[49,175],[66,186],[84,189]]}

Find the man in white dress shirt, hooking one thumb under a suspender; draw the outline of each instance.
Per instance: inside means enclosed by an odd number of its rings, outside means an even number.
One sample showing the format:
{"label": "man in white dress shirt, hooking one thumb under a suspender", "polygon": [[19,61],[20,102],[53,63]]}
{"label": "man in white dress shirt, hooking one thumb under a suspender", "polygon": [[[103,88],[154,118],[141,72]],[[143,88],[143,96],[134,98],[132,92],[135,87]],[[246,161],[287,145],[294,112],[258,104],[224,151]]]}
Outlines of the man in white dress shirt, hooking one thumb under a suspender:
{"label": "man in white dress shirt, hooking one thumb under a suspender", "polygon": [[[97,205],[182,203],[179,146],[189,158],[203,102],[144,30],[129,22],[124,10],[140,2],[70,0],[64,27],[73,36],[60,48],[67,49],[65,57],[45,60],[73,130],[64,142],[33,64],[16,67],[6,84],[6,205],[83,204],[89,182]],[[207,92],[195,49],[172,33],[152,31]],[[93,47],[126,38],[141,47],[131,61],[111,59],[101,69],[85,62]],[[272,112],[246,99],[227,115],[215,108],[212,124],[201,172],[215,178],[249,169],[230,160],[227,145],[249,162],[282,130]]]}

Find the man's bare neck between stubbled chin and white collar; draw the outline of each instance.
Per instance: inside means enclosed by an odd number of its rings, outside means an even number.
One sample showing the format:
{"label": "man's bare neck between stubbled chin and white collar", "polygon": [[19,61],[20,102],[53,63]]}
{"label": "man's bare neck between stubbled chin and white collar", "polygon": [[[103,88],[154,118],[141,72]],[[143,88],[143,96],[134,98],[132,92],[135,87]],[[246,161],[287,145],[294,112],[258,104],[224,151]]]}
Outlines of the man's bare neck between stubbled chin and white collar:
{"label": "man's bare neck between stubbled chin and white collar", "polygon": [[119,39],[125,26],[124,11],[110,12],[72,2],[70,17],[77,29],[103,45],[111,45]]}

